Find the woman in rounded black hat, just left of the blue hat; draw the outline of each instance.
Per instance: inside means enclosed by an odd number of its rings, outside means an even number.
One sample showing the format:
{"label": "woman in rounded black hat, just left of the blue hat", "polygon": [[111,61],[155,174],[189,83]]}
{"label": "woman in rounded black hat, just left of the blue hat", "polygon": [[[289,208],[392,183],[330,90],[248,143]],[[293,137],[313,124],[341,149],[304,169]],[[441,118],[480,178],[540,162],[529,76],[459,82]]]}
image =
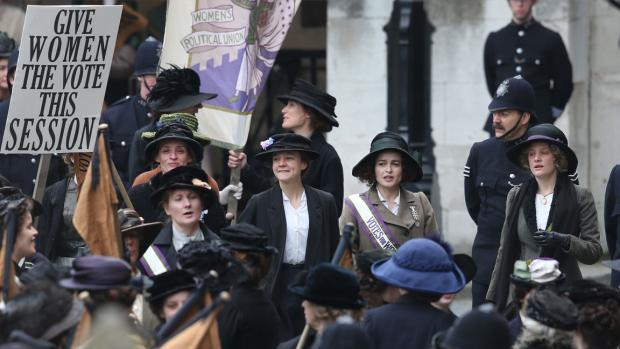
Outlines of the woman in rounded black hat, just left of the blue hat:
{"label": "woman in rounded black hat, just left of the blue hat", "polygon": [[[351,271],[329,263],[321,263],[289,286],[303,299],[306,323],[312,328],[303,348],[315,348],[324,330],[341,316],[359,321],[366,305],[359,295],[360,285]],[[281,343],[278,349],[294,349],[300,337]]]}

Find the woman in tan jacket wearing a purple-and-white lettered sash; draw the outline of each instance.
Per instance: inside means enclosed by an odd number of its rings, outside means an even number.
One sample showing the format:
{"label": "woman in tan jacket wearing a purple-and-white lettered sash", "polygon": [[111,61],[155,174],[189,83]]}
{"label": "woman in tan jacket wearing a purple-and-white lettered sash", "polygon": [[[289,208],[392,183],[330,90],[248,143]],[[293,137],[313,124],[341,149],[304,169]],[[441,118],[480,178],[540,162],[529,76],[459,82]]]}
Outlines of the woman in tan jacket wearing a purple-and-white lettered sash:
{"label": "woman in tan jacket wearing a purple-and-white lettered sash", "polygon": [[395,251],[405,241],[438,234],[435,213],[423,192],[406,190],[403,182],[422,178],[422,168],[409,154],[407,142],[394,132],[382,132],[370,152],[353,167],[353,176],[370,185],[346,198],[341,225],[357,228],[353,251],[381,248]]}

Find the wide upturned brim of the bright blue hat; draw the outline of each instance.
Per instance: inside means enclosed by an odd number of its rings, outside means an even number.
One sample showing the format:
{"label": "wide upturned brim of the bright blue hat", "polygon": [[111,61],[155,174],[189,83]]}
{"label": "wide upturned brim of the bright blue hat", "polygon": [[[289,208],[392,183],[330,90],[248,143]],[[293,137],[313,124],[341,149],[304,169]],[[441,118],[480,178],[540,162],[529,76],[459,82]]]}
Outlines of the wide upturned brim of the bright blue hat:
{"label": "wide upturned brim of the bright blue hat", "polygon": [[452,294],[465,287],[465,276],[453,263],[450,271],[416,271],[394,263],[393,258],[375,262],[372,274],[379,281],[410,291]]}

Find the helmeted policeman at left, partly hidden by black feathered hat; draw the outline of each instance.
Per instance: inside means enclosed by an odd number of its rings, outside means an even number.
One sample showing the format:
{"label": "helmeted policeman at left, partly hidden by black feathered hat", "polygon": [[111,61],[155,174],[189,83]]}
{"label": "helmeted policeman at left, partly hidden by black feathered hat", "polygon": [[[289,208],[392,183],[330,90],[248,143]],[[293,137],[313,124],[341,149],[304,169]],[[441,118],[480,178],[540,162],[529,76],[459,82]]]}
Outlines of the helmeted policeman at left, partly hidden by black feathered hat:
{"label": "helmeted policeman at left, partly hidden by black feathered hat", "polygon": [[129,187],[129,150],[137,129],[149,123],[153,112],[147,105],[151,88],[155,85],[155,73],[161,54],[161,42],[148,37],[138,47],[134,77],[140,84],[138,94],[127,96],[115,103],[101,115],[101,123],[109,125],[112,159],[121,179]]}

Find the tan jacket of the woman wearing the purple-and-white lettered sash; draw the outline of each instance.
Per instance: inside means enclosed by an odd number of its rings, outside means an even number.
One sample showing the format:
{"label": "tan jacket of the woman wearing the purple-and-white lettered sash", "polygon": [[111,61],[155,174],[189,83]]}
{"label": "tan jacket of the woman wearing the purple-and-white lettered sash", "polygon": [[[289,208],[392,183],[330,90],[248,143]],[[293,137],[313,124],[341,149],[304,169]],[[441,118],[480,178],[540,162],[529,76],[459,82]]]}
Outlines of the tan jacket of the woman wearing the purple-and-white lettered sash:
{"label": "tan jacket of the woman wearing the purple-and-white lettered sash", "polygon": [[[361,194],[366,196],[372,204],[374,210],[383,218],[385,225],[391,235],[397,241],[392,241],[396,247],[401,246],[407,240],[420,237],[430,237],[439,234],[435,212],[428,198],[423,192],[410,192],[400,188],[400,206],[398,215],[394,215],[379,199],[376,186],[372,186],[367,192]],[[379,245],[364,229],[360,229],[359,223],[351,209],[351,202],[345,200],[345,207],[340,218],[341,229],[347,223],[352,223],[357,232],[354,238],[353,251],[362,252],[375,248]],[[415,211],[415,213],[414,213]]]}

